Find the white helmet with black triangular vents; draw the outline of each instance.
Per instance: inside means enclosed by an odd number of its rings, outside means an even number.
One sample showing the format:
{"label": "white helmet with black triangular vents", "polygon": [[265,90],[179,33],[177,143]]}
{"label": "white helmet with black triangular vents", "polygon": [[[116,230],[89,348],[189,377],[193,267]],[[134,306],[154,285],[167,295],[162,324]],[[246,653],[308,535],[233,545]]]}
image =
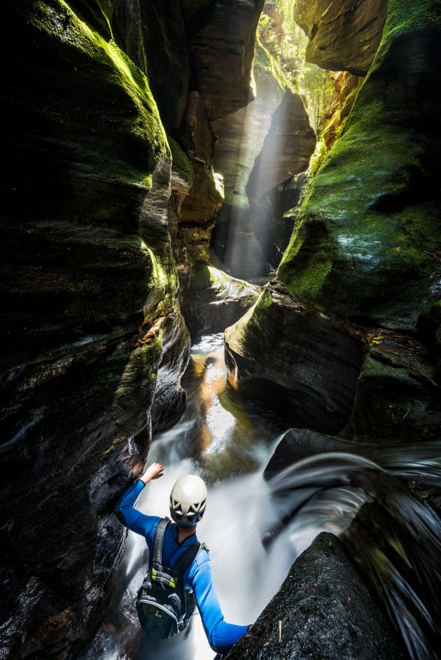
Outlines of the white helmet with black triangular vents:
{"label": "white helmet with black triangular vents", "polygon": [[207,487],[197,475],[184,475],[170,493],[170,515],[179,525],[190,527],[200,521],[207,505]]}

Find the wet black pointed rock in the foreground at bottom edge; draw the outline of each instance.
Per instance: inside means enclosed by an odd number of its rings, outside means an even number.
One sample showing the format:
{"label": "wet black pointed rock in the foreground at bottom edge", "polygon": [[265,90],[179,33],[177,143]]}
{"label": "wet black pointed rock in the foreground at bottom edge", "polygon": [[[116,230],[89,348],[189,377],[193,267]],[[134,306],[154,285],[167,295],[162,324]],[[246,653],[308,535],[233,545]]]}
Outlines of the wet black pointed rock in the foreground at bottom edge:
{"label": "wet black pointed rock in the foreground at bottom edge", "polygon": [[330,533],[294,562],[277,594],[228,660],[398,660],[400,640],[367,582]]}

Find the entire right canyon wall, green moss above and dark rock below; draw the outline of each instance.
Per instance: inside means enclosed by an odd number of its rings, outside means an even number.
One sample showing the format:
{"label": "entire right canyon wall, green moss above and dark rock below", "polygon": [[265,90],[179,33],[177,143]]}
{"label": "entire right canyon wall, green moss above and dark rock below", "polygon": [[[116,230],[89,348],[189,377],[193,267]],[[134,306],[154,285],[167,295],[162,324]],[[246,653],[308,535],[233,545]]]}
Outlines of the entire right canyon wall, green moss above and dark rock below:
{"label": "entire right canyon wall, green moss above and dark rock below", "polygon": [[293,426],[370,442],[439,435],[439,36],[437,3],[388,3],[277,277],[225,333],[232,385]]}

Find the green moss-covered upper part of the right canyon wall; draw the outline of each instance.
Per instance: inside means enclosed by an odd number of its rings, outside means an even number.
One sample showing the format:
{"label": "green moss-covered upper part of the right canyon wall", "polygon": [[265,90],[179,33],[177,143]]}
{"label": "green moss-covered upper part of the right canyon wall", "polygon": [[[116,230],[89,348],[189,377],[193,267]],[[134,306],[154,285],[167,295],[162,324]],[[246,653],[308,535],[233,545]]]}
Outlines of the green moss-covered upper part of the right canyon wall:
{"label": "green moss-covered upper part of the right canyon wall", "polygon": [[402,329],[439,297],[440,31],[439,3],[389,3],[377,56],[279,268],[294,296]]}

